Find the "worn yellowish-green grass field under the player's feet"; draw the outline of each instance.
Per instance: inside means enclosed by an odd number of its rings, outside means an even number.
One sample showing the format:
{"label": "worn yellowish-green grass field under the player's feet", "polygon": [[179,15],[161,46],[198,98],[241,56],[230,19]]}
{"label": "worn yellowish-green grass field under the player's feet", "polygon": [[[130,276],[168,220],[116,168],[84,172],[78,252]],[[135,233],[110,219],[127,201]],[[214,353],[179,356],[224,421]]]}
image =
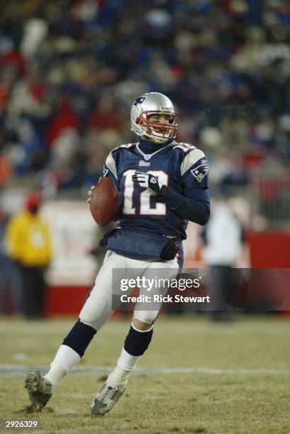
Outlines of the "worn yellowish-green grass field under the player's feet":
{"label": "worn yellowish-green grass field under the player's feet", "polygon": [[290,321],[276,316],[241,317],[230,324],[159,318],[125,394],[111,413],[96,418],[89,413],[91,399],[106,369],[115,365],[130,324],[110,321],[48,408],[25,413],[26,369],[45,370],[73,323],[74,318],[1,318],[0,419],[39,422],[36,430],[2,425],[1,432],[290,433]]}

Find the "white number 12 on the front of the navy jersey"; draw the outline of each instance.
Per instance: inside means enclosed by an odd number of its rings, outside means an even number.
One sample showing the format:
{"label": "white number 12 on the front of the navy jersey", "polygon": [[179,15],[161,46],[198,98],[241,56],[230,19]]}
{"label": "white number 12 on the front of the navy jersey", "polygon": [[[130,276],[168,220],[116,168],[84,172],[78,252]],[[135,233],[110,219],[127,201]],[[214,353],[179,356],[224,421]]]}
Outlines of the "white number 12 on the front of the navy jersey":
{"label": "white number 12 on the front of the navy jersey", "polygon": [[[135,187],[132,181],[132,176],[135,173],[135,169],[128,169],[123,173],[123,177],[125,177],[124,182],[124,206],[123,206],[123,214],[127,214],[130,216],[137,215],[136,208],[133,206],[133,193]],[[168,184],[168,175],[162,170],[148,170],[147,173],[154,175],[160,184],[166,185]],[[148,190],[140,190],[140,213],[139,216],[165,216],[166,215],[166,205],[161,202],[156,204],[150,204],[150,196],[154,196]],[[153,206],[151,206],[153,205]]]}

